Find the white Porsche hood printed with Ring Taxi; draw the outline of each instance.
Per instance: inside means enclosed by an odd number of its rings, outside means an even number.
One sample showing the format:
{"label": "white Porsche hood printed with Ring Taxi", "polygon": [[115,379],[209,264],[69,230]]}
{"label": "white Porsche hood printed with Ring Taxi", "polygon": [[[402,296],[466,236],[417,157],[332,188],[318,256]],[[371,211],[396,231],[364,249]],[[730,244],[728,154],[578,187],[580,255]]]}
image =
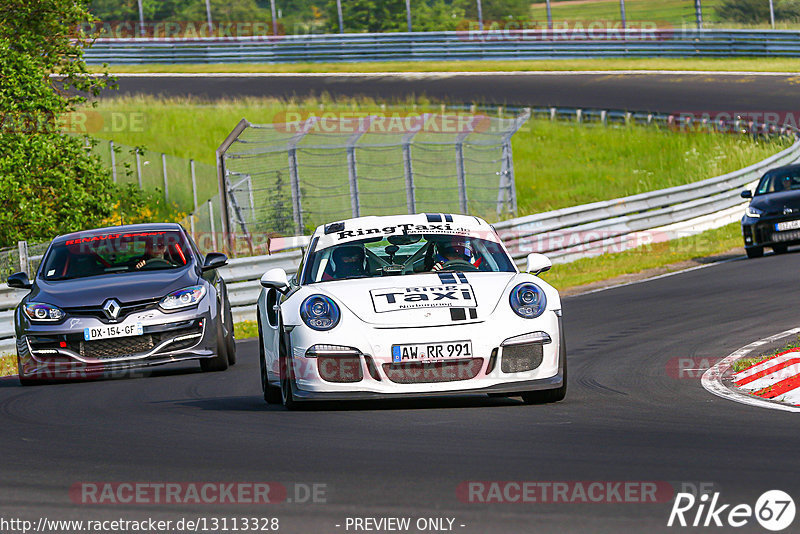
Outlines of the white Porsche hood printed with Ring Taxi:
{"label": "white Porsche hood printed with Ring Taxi", "polygon": [[[365,323],[387,327],[485,320],[517,273],[425,273],[324,282],[329,294]],[[313,288],[313,289],[311,289]]]}

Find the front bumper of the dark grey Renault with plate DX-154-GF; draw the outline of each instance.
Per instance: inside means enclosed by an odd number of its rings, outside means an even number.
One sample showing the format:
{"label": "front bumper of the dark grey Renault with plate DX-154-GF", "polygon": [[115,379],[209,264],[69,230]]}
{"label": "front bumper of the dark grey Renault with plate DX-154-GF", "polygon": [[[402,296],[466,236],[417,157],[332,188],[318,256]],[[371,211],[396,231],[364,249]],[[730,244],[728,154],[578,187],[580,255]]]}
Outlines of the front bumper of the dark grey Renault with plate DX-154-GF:
{"label": "front bumper of the dark grey Renault with plate DX-154-GF", "polygon": [[95,378],[215,356],[216,329],[208,308],[148,310],[114,324],[141,324],[142,334],[87,341],[84,329],[108,326],[95,317],[70,316],[56,325],[25,324],[17,337],[20,377]]}

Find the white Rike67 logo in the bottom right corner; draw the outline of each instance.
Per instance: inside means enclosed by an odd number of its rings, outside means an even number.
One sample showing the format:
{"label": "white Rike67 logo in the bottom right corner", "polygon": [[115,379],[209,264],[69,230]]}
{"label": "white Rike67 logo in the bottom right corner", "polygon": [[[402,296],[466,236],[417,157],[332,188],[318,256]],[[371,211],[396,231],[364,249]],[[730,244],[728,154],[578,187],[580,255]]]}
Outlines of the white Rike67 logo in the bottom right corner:
{"label": "white Rike67 logo in the bottom right corner", "polygon": [[740,528],[753,525],[779,532],[789,528],[794,521],[795,505],[792,497],[781,490],[770,490],[749,504],[723,504],[720,493],[703,493],[699,497],[691,493],[678,493],[669,514],[667,526],[681,527],[729,527]]}

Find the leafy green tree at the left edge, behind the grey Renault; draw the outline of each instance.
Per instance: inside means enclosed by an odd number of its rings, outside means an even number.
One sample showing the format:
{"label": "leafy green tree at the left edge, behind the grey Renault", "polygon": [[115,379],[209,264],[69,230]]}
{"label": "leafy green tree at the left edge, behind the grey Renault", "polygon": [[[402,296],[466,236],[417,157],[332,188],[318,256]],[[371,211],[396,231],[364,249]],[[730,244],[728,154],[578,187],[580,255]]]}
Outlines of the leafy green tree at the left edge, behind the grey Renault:
{"label": "leafy green tree at the left edge, behind the grey Renault", "polygon": [[[109,86],[88,76],[86,0],[0,3],[0,246],[46,240],[111,214],[107,170],[59,119]],[[54,79],[51,75],[58,78]]]}

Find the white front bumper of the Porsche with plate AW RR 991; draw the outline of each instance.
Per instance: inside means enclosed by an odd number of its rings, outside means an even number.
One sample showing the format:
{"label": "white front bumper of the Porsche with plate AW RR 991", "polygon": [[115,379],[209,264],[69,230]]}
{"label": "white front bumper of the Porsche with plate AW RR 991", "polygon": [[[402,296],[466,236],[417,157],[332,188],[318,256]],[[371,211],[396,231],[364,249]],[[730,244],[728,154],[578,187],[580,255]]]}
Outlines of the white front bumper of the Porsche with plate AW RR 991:
{"label": "white front bumper of the Porsche with plate AW RR 991", "polygon": [[[533,368],[520,371],[506,365],[512,351],[503,342],[530,332],[544,332],[549,342],[526,344],[536,348],[540,357]],[[560,388],[564,383],[566,348],[561,318],[552,311],[531,321],[512,325],[479,323],[443,328],[362,328],[338,332],[320,341],[320,333],[302,327],[291,332],[293,394],[298,401],[394,399],[404,397],[452,396],[467,394],[515,394],[526,391]],[[434,339],[435,338],[435,339]],[[448,342],[469,339],[474,357],[470,360],[440,360],[452,363],[454,370],[417,368],[404,377],[396,372],[391,359],[393,344]],[[349,341],[346,343],[345,341]],[[313,345],[348,346],[355,350],[348,356],[352,364],[346,372],[350,380],[331,382],[323,379],[320,357],[305,354]],[[534,345],[538,345],[535,346]],[[519,345],[517,345],[519,347]],[[506,352],[508,351],[508,352]],[[478,361],[479,360],[479,361]],[[457,362],[463,362],[458,366]],[[472,365],[474,363],[474,366]],[[419,364],[423,365],[423,364]],[[531,366],[529,366],[531,367]],[[429,372],[430,371],[430,372]],[[438,374],[437,374],[438,373]],[[448,374],[449,373],[449,374]]]}

